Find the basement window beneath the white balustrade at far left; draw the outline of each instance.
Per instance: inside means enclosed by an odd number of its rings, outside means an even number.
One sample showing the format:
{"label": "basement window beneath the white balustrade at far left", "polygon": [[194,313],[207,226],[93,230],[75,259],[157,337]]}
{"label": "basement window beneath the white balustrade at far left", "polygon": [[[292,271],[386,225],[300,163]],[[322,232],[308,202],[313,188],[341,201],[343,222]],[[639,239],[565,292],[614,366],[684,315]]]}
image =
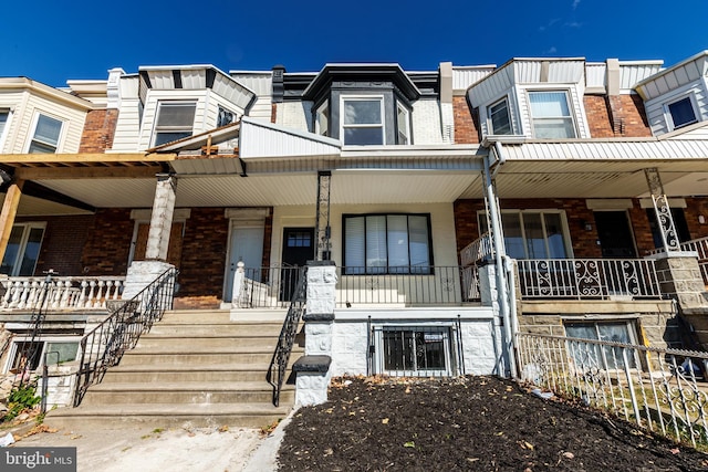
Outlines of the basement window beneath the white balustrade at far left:
{"label": "basement window beneath the white balustrade at far left", "polygon": [[12,343],[6,371],[37,370],[44,365],[58,365],[76,360],[79,337],[48,337],[40,340],[15,340]]}

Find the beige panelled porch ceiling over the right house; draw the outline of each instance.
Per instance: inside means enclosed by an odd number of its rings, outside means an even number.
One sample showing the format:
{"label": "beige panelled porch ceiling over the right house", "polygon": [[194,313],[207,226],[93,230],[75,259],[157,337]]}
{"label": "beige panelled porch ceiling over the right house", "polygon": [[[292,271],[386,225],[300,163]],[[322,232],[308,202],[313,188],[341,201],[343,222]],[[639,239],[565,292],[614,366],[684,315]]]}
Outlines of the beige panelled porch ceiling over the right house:
{"label": "beige panelled porch ceiling over the right house", "polygon": [[[639,198],[649,196],[644,169],[656,167],[671,197],[708,195],[708,160],[507,160],[497,175],[500,198]],[[481,183],[481,182],[479,182]],[[481,186],[464,198],[479,198]]]}

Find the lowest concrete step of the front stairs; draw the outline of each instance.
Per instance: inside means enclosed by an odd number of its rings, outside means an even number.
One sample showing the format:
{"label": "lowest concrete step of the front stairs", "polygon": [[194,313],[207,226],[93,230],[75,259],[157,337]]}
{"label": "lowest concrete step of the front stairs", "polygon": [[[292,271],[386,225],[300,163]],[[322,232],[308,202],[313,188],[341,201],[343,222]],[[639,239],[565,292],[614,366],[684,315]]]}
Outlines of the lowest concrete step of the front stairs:
{"label": "lowest concrete step of the front stairs", "polygon": [[59,408],[46,413],[44,423],[51,428],[71,429],[80,426],[104,427],[111,422],[136,423],[150,428],[205,428],[238,426],[262,428],[282,420],[292,409],[281,402],[273,407],[261,403],[122,403]]}

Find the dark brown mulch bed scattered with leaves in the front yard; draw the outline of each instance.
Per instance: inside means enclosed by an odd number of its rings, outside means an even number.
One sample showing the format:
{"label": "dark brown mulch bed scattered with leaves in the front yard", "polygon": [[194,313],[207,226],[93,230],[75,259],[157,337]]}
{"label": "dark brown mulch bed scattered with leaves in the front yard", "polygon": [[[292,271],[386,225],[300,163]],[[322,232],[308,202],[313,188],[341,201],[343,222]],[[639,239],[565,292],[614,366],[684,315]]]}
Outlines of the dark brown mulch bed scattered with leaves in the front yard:
{"label": "dark brown mulch bed scattered with leaves in the front yard", "polygon": [[281,471],[706,471],[708,455],[511,380],[337,378],[285,427]]}

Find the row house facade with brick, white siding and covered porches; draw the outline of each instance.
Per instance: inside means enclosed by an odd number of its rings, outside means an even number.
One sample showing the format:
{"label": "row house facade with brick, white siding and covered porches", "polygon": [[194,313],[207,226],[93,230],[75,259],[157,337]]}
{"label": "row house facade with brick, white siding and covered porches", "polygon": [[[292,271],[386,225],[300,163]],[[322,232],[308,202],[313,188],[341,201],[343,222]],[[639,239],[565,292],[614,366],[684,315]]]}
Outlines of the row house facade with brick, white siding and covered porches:
{"label": "row house facade with brick, white siding and covered porches", "polygon": [[71,364],[134,281],[282,319],[310,261],[325,379],[516,376],[517,332],[702,348],[707,61],[0,78],[0,367],[50,270],[32,342]]}

